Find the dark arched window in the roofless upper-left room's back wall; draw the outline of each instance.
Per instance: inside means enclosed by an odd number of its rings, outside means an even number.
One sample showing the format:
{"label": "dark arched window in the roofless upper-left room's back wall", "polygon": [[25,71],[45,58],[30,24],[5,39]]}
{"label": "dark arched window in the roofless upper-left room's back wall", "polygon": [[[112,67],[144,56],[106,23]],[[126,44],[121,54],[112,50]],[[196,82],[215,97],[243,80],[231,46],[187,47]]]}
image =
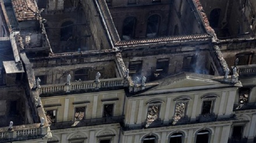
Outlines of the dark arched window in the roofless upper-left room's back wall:
{"label": "dark arched window in the roofless upper-left room's back wall", "polygon": [[61,41],[67,41],[69,38],[72,37],[73,34],[73,22],[72,21],[66,21],[61,24]]}

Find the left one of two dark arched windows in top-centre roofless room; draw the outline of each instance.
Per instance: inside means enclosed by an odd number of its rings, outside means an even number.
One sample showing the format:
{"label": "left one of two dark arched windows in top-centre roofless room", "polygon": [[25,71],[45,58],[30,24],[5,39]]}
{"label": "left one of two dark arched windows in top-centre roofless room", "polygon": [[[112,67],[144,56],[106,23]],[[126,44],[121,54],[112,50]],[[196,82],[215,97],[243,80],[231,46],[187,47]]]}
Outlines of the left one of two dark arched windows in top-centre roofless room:
{"label": "left one of two dark arched windows in top-centre roofless room", "polygon": [[134,38],[135,27],[136,27],[136,18],[135,17],[127,17],[123,21],[123,36],[124,40],[130,40]]}

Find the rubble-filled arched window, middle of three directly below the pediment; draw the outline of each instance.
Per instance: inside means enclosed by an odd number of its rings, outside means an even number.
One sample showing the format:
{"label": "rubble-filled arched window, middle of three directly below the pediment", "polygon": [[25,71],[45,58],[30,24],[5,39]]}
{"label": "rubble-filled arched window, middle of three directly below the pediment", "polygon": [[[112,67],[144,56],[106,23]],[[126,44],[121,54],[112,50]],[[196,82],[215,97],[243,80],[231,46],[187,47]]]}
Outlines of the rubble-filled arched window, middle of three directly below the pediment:
{"label": "rubble-filled arched window, middle of three directly below the pediment", "polygon": [[173,118],[173,123],[176,124],[180,119],[186,116],[187,112],[187,102],[179,102],[175,105],[175,115]]}

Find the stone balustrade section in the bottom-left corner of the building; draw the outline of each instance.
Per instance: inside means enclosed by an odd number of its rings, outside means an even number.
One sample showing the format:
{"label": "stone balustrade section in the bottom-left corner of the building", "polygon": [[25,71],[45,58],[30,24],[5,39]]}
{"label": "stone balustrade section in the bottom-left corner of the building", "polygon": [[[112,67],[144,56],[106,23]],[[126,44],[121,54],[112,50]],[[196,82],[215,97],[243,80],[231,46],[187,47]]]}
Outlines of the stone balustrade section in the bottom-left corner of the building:
{"label": "stone balustrade section in the bottom-left corner of the building", "polygon": [[37,138],[41,140],[48,130],[47,127],[40,127],[40,123],[13,126],[12,130],[8,129],[9,127],[0,128],[0,142],[33,140]]}

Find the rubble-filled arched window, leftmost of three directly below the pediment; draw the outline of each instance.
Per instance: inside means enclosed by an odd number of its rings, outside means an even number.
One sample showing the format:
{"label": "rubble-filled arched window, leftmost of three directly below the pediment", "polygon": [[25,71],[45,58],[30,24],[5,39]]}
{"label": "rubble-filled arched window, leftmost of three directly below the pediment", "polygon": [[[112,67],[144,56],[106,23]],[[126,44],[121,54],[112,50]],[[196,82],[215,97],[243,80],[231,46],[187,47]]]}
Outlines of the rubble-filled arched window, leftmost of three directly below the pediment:
{"label": "rubble-filled arched window, leftmost of three directly below the pediment", "polygon": [[159,119],[160,107],[161,105],[159,104],[148,106],[146,127],[150,126],[151,123]]}

